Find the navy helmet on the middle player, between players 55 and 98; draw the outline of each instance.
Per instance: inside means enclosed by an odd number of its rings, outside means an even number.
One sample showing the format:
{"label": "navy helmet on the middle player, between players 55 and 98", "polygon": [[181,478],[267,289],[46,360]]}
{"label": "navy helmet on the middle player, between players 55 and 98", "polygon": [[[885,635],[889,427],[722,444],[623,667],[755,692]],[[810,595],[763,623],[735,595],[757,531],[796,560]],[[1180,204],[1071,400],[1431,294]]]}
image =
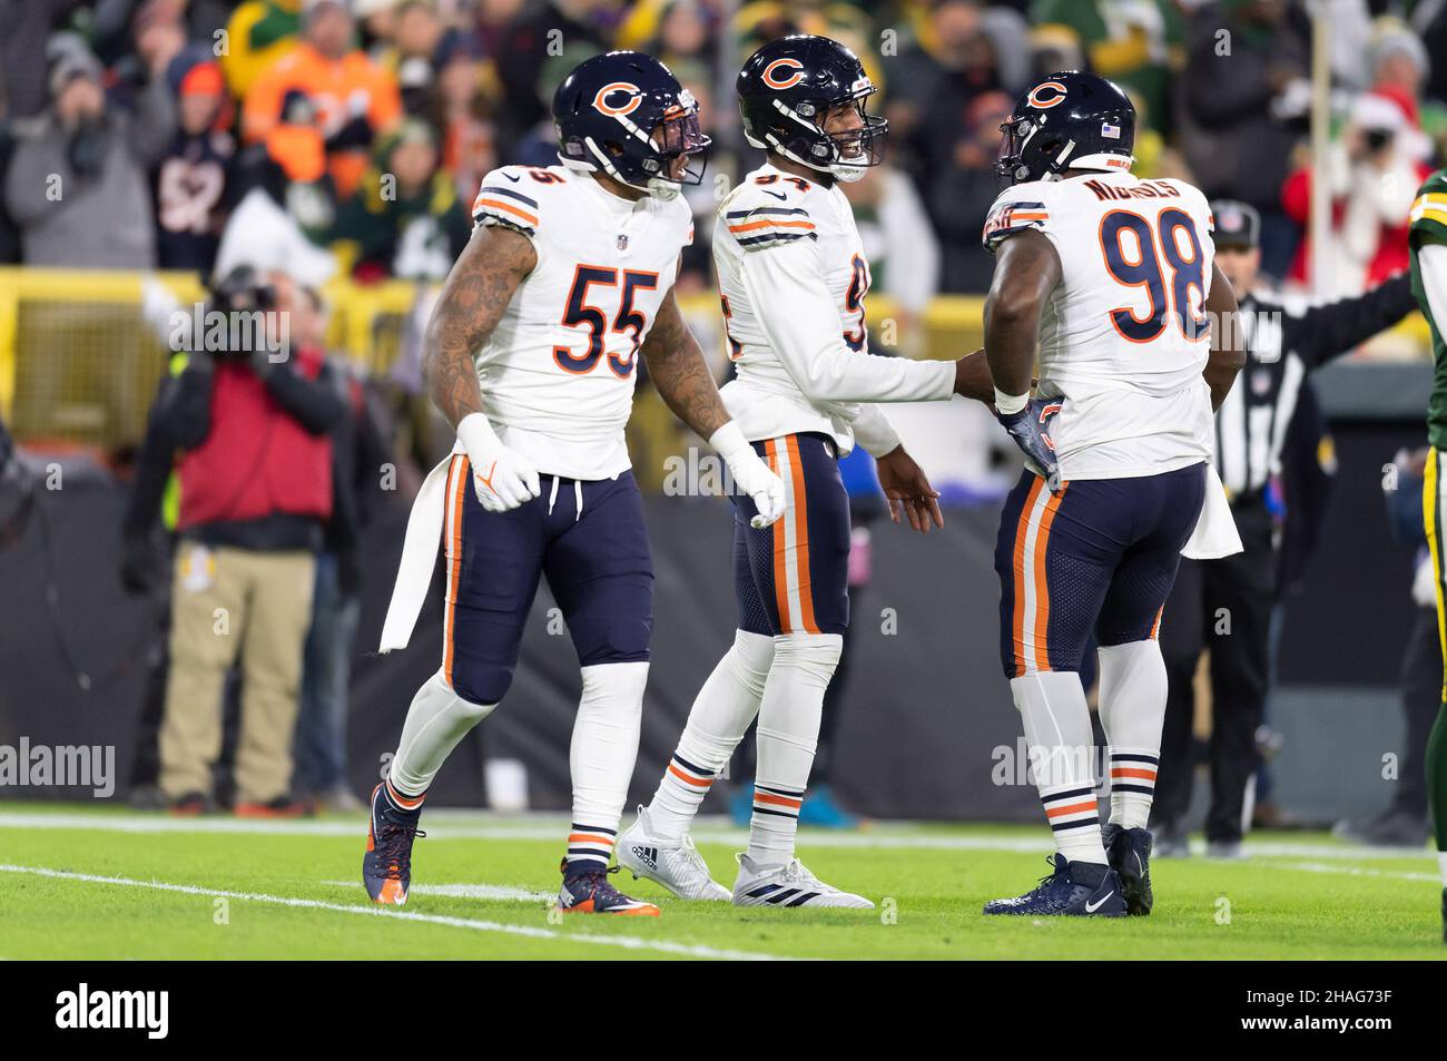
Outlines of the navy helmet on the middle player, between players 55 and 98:
{"label": "navy helmet on the middle player, between players 55 and 98", "polygon": [[[744,136],[755,148],[777,151],[810,169],[857,181],[884,156],[890,123],[865,113],[875,93],[864,64],[826,36],[784,36],[760,48],[738,74]],[[825,114],[852,103],[860,127],[828,133]]]}

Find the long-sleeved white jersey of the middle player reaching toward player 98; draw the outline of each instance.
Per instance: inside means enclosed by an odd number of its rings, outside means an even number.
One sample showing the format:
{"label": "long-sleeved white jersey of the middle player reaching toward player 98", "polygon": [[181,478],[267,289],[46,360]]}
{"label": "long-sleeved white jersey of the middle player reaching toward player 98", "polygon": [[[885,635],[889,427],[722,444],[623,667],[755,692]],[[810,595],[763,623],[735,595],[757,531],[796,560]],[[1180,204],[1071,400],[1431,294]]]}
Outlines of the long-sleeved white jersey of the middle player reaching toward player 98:
{"label": "long-sleeved white jersey of the middle player reaching toward player 98", "polygon": [[838,185],[748,174],[719,206],[713,263],[738,372],[724,402],[744,437],[819,431],[878,456],[899,436],[873,402],[951,397],[954,362],[868,352],[870,263]]}

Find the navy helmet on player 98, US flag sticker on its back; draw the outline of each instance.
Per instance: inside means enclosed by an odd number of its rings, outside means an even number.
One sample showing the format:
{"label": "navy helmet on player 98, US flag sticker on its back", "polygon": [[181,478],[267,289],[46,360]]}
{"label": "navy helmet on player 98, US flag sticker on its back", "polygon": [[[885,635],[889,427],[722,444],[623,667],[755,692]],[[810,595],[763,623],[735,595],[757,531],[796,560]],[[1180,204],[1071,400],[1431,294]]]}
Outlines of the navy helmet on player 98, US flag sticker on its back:
{"label": "navy helmet on player 98, US flag sticker on its back", "polygon": [[1136,107],[1114,81],[1078,69],[1051,74],[1014,104],[1000,126],[996,172],[1010,184],[1045,181],[1066,169],[1130,169]]}

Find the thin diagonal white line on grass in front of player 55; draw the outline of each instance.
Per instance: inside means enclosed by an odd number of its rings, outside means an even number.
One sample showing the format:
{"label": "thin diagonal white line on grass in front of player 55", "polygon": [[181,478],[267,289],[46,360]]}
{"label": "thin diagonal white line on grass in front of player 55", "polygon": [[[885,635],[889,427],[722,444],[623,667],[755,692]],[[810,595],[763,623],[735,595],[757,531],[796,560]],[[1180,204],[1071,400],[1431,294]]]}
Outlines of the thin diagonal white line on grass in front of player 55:
{"label": "thin diagonal white line on grass in front of player 55", "polygon": [[273,906],[300,906],[311,910],[333,910],[336,913],[356,913],[373,918],[394,918],[398,921],[417,921],[428,925],[446,925],[447,928],[467,928],[478,932],[499,932],[502,935],[525,937],[528,939],[551,939],[564,944],[590,944],[596,947],[619,947],[627,951],[658,951],[660,954],[679,954],[689,958],[721,958],[725,961],[790,961],[778,954],[755,954],[752,951],[734,951],[703,944],[680,944],[670,939],[644,939],[641,937],[606,937],[589,935],[586,932],[557,932],[548,928],[534,928],[530,925],[504,925],[496,921],[478,921],[473,918],[449,918],[440,913],[418,913],[415,910],[394,910],[383,906],[353,906],[347,903],[328,903],[320,899],[301,899],[298,896],[265,895],[259,892],[229,892],[226,889],[200,887],[197,884],[169,884],[161,880],[132,880],[130,877],[104,877],[94,873],[72,873],[69,870],[49,870],[41,866],[9,866],[0,863],[0,873],[26,873],[35,877],[49,877],[52,880],[74,880],[87,884],[113,884],[117,887],[145,887],[156,892],[177,892],[181,895],[203,895],[213,899],[236,899],[239,902],[271,903]]}

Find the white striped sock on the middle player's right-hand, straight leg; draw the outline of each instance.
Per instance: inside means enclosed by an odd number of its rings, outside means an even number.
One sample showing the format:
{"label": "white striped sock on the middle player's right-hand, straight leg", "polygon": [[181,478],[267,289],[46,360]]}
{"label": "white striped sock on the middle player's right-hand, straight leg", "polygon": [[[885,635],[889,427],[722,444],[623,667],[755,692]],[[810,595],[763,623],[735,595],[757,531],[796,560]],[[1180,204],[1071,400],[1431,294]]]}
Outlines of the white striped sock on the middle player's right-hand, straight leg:
{"label": "white striped sock on the middle player's right-hand, straight leg", "polygon": [[794,857],[799,808],[809,787],[823,717],[823,693],[839,666],[839,634],[781,634],[758,709],[758,766],[748,857],[757,866],[783,866]]}

